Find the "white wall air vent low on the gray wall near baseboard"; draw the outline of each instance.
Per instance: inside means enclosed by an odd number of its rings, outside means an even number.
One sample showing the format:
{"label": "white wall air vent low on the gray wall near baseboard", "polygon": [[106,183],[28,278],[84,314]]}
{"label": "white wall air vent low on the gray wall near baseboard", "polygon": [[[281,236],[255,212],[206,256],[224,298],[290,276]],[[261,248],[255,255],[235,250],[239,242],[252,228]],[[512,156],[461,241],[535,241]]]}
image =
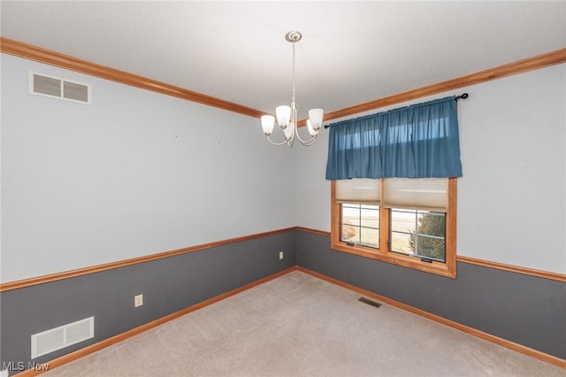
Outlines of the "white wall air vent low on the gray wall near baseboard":
{"label": "white wall air vent low on the gray wall near baseboard", "polygon": [[95,318],[80,319],[65,326],[32,335],[32,358],[61,350],[95,336]]}

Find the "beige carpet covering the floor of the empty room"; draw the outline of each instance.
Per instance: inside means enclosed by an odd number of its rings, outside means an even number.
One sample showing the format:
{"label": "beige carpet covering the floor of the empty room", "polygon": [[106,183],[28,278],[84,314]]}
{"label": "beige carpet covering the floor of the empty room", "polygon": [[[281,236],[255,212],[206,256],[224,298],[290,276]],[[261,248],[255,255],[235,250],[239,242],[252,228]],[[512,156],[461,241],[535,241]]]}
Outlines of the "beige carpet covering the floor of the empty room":
{"label": "beige carpet covering the floor of the empty room", "polygon": [[45,376],[566,376],[293,272]]}

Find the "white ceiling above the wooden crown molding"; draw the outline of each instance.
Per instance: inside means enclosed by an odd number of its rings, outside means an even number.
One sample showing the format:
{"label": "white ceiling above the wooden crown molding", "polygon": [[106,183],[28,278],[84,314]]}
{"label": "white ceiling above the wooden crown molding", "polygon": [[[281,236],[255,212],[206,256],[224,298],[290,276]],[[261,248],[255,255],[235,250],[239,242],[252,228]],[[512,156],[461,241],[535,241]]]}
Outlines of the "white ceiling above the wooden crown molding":
{"label": "white ceiling above the wooden crown molding", "polygon": [[566,48],[566,2],[2,1],[1,35],[299,117]]}

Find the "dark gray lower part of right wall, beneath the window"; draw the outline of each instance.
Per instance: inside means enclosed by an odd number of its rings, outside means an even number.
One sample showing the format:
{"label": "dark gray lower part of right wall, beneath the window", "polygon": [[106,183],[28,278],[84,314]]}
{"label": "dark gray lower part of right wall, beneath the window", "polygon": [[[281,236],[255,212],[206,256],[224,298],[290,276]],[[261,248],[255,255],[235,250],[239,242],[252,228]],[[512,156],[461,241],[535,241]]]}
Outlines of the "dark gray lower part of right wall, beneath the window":
{"label": "dark gray lower part of right wall, beneath the window", "polygon": [[424,312],[566,359],[566,284],[458,262],[457,278],[330,249],[296,231],[297,265]]}

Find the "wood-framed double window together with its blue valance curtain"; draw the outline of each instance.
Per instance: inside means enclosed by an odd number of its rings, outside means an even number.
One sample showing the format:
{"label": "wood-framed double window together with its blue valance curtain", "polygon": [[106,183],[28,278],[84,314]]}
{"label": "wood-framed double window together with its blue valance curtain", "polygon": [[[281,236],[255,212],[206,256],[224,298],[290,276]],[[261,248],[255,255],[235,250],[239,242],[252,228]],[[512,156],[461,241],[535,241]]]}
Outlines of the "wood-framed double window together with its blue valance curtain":
{"label": "wood-framed double window together with its blue valance curtain", "polygon": [[455,177],[462,176],[455,100],[330,125],[333,249],[455,277]]}

